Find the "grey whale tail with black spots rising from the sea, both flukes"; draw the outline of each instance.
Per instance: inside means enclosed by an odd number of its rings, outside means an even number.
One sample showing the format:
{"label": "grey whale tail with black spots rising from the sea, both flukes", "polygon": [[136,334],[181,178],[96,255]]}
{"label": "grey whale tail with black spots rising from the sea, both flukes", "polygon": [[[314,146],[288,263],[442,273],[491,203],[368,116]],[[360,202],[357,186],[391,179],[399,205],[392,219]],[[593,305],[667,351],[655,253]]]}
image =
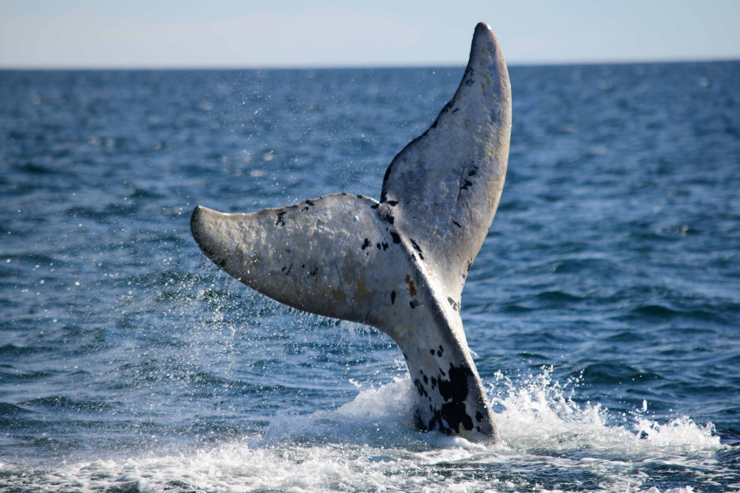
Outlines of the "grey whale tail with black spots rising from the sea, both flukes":
{"label": "grey whale tail with black spots rising from the sea, both flukes", "polygon": [[394,157],[380,202],[330,194],[251,214],[198,206],[192,236],[250,288],[391,336],[415,387],[419,429],[497,437],[460,295],[499,204],[510,135],[506,64],[481,23],[454,98]]}

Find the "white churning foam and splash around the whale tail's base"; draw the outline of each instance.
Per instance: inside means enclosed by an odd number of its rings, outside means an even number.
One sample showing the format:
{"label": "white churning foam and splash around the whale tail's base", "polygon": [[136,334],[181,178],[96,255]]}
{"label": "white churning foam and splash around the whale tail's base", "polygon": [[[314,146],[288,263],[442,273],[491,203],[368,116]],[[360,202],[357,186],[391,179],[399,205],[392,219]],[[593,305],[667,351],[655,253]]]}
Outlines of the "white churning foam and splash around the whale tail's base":
{"label": "white churning foam and splash around the whale tail's base", "polygon": [[[568,398],[570,384],[559,384],[545,371],[519,387],[508,382],[502,395],[491,395],[504,409],[496,416],[503,443],[495,445],[415,432],[410,427],[411,384],[397,378],[361,390],[332,411],[280,415],[262,438],[188,455],[78,463],[39,477],[36,486],[49,492],[92,492],[134,482],[144,493],[177,492],[178,487],[229,493],[548,492],[528,477],[548,477],[547,471],[557,470],[569,477],[595,477],[602,491],[637,492],[645,491],[641,486],[649,475],[641,468],[646,463],[687,466],[705,475],[707,455],[721,449],[711,424],[700,426],[688,418],[659,425],[636,415],[632,424],[608,426],[605,409],[581,407]],[[640,439],[642,431],[649,438]],[[586,450],[588,457],[582,457]],[[460,466],[452,468],[454,475],[447,474],[451,469],[445,464],[455,462]],[[465,472],[476,468],[490,473]],[[9,464],[0,464],[0,470],[19,471]],[[501,473],[505,477],[500,480],[492,477]],[[556,486],[549,491],[568,489]],[[664,493],[691,491],[686,486]]]}

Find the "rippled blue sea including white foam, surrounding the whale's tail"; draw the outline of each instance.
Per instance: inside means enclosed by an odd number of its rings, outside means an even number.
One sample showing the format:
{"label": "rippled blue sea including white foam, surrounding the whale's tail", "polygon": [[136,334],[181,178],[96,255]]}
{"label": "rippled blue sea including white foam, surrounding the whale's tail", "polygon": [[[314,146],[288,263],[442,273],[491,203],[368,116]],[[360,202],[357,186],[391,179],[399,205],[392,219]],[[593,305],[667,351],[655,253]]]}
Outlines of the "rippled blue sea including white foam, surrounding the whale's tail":
{"label": "rippled blue sea including white foam, surrounding the whale's tail", "polygon": [[0,491],[740,489],[740,62],[511,67],[462,294],[500,443],[383,333],[212,265],[195,205],[378,197],[462,67],[0,72]]}

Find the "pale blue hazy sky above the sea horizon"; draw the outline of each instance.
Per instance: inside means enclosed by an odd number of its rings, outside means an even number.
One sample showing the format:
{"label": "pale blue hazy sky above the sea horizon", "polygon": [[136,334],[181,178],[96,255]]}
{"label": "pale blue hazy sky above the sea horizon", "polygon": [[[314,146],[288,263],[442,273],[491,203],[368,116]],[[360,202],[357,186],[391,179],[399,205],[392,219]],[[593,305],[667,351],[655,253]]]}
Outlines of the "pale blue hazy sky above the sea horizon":
{"label": "pale blue hazy sky above the sea horizon", "polygon": [[510,65],[740,60],[739,0],[0,0],[0,68],[458,66],[479,21]]}

